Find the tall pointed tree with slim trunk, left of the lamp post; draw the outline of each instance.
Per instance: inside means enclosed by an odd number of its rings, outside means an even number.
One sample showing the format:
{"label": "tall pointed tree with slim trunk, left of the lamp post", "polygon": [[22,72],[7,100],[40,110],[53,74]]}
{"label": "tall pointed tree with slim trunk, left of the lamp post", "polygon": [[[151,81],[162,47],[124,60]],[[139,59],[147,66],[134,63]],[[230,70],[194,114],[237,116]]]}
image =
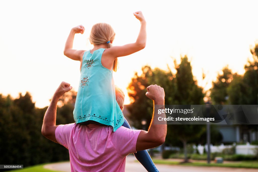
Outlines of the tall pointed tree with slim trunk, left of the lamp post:
{"label": "tall pointed tree with slim trunk, left of the lamp post", "polygon": [[[176,94],[173,98],[173,104],[204,104],[203,88],[197,85],[193,79],[192,67],[187,56],[181,58],[181,63],[176,64]],[[168,125],[168,134],[170,138],[178,137],[184,147],[184,162],[188,162],[187,143],[190,140],[199,138],[206,131],[204,125]]]}

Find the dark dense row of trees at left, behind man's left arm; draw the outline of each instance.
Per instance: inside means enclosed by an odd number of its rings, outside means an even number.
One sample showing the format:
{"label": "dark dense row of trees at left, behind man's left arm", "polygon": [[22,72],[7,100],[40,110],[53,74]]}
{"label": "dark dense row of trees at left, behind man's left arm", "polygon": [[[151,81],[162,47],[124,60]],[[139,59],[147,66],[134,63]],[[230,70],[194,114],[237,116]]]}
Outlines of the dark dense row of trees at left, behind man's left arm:
{"label": "dark dense row of trees at left, behind man's left arm", "polygon": [[[0,161],[24,166],[69,159],[68,150],[41,134],[46,108],[35,108],[31,95],[12,99],[0,94]],[[57,109],[57,124],[74,122],[69,101]]]}

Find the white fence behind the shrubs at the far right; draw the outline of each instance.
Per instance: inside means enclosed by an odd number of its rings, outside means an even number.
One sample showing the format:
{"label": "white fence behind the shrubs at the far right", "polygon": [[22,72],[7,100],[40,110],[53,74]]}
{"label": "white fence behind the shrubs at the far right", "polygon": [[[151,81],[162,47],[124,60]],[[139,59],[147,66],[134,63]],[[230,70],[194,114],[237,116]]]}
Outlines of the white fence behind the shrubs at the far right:
{"label": "white fence behind the shrubs at the far right", "polygon": [[[225,148],[232,148],[233,146],[236,146],[236,154],[244,154],[244,155],[255,155],[256,153],[258,153],[258,145],[250,145],[249,143],[247,143],[246,145],[219,145],[219,146],[213,146],[211,144],[210,148],[211,148],[211,153],[214,152],[222,152],[223,149]],[[195,146],[195,148],[197,148],[197,150],[199,151],[200,154],[203,154],[204,152],[204,148],[205,151],[208,152],[208,145],[206,144],[205,146],[201,146],[198,145],[197,147]]]}

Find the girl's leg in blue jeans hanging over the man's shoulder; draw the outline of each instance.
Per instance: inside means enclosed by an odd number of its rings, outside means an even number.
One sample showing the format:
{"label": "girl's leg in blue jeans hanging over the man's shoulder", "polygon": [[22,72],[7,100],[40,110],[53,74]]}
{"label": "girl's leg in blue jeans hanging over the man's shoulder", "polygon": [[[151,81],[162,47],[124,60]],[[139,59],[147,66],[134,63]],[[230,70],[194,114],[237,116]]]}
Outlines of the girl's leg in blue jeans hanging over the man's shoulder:
{"label": "girl's leg in blue jeans hanging over the man's shoulder", "polygon": [[[125,119],[124,124],[122,125],[126,128],[130,128],[129,123],[127,122],[127,120]],[[134,153],[135,158],[143,165],[143,167],[149,171],[149,172],[157,172],[159,171],[155,164],[153,163],[149,153],[147,150],[143,150],[143,151],[137,151],[137,153]]]}

